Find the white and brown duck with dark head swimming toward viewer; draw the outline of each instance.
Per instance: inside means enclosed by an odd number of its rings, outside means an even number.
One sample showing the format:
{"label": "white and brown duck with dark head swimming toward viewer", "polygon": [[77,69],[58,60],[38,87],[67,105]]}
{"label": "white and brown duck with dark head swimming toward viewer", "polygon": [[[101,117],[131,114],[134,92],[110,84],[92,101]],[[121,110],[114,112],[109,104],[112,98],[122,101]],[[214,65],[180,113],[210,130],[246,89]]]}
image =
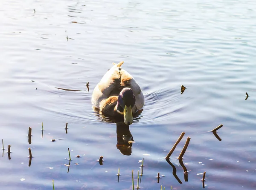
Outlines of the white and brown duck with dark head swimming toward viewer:
{"label": "white and brown duck with dark head swimming toward viewer", "polygon": [[144,96],[135,79],[121,68],[124,62],[113,63],[93,90],[92,103],[103,115],[123,117],[131,125],[133,116],[144,106]]}

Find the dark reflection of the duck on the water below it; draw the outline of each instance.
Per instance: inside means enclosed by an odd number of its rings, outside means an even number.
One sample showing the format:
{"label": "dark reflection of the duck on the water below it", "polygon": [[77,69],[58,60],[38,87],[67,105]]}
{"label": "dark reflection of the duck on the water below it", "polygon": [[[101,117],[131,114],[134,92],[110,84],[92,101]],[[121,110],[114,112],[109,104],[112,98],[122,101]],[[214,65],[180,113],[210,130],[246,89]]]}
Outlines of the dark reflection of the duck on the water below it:
{"label": "dark reflection of the duck on the water below it", "polygon": [[[134,143],[134,139],[130,132],[129,125],[126,125],[122,118],[111,118],[102,115],[98,108],[93,107],[93,111],[100,121],[116,123],[116,148],[120,150],[120,153],[123,155],[130,156],[132,153],[131,147]],[[142,111],[143,109],[134,115],[134,123],[138,122],[138,120],[142,118],[142,116],[140,116]]]}

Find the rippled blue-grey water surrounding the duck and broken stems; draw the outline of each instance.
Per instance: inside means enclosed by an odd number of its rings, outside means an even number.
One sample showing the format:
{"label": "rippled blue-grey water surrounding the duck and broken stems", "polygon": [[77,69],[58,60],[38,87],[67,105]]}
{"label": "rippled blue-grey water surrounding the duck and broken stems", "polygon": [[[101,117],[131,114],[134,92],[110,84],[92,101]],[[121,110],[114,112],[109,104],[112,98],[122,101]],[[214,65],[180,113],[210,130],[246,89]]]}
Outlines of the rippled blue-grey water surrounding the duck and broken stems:
{"label": "rippled blue-grey water surrounding the duck and broken stems", "polygon": [[[12,152],[1,158],[1,189],[52,189],[52,179],[58,190],[132,189],[142,158],[141,189],[202,189],[204,171],[206,189],[255,189],[255,7],[250,0],[1,1],[0,139]],[[145,94],[129,129],[97,116],[90,102],[119,61]],[[220,124],[221,141],[208,132]],[[136,142],[124,149],[130,156],[116,146],[128,131]],[[170,160],[177,179],[164,157],[183,131]],[[176,158],[187,136],[186,182]]]}

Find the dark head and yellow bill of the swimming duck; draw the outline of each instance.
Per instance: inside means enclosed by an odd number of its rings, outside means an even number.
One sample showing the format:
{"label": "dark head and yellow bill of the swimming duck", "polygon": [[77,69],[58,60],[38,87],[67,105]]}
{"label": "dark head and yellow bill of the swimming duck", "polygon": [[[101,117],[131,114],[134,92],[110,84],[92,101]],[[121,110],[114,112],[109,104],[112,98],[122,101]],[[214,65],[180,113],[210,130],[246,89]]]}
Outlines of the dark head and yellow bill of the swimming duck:
{"label": "dark head and yellow bill of the swimming duck", "polygon": [[135,101],[131,88],[123,88],[118,96],[116,111],[124,115],[126,125],[131,125],[133,122],[132,108],[135,105]]}

